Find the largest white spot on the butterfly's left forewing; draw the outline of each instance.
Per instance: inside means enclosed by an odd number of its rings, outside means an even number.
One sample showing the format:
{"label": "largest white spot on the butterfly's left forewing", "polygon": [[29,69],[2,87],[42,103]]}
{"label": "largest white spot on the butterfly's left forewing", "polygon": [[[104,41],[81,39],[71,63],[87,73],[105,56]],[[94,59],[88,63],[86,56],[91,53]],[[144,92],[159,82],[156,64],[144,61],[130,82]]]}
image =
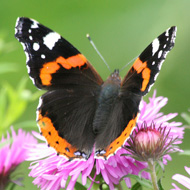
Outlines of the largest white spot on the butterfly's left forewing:
{"label": "largest white spot on the butterfly's left forewing", "polygon": [[43,40],[44,40],[44,44],[50,49],[52,50],[55,43],[61,38],[61,36],[56,33],[56,32],[51,32],[49,34],[47,34]]}

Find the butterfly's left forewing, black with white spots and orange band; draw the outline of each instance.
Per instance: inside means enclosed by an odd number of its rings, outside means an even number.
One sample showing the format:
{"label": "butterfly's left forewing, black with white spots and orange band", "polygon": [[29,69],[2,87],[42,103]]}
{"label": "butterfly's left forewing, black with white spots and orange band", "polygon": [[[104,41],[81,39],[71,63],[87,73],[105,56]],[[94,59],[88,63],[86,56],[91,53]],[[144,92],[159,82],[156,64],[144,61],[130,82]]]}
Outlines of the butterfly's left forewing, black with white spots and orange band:
{"label": "butterfly's left forewing, black with white spots and orange band", "polygon": [[94,88],[103,82],[84,55],[37,21],[18,18],[15,37],[23,45],[28,74],[39,89]]}

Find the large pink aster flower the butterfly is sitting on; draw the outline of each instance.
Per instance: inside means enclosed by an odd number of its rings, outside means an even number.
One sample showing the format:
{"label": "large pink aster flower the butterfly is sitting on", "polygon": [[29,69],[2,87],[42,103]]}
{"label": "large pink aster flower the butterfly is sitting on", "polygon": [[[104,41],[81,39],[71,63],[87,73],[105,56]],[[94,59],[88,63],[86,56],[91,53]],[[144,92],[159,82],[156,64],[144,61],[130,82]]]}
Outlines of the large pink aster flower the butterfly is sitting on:
{"label": "large pink aster flower the butterfly is sitting on", "polygon": [[[164,115],[159,112],[160,109],[166,105],[167,98],[153,97],[149,99],[150,103],[142,101],[141,112],[138,120],[138,125],[146,122],[147,125],[151,124],[154,120],[155,127],[167,126],[165,132],[167,134],[170,131],[170,135],[173,138],[183,137],[183,128],[178,126],[181,123],[171,122],[169,120],[174,118],[177,114],[171,113]],[[162,125],[161,125],[162,127]],[[113,190],[114,186],[119,184],[122,177],[133,174],[138,175],[139,171],[147,167],[147,164],[135,160],[129,156],[120,156],[121,154],[129,153],[125,149],[120,149],[117,153],[110,157],[108,160],[95,159],[94,154],[91,154],[87,161],[68,161],[66,158],[57,156],[54,149],[47,147],[45,138],[39,133],[33,132],[37,139],[42,140],[42,143],[28,146],[30,150],[30,156],[28,160],[34,161],[30,165],[30,176],[35,178],[33,183],[38,185],[42,190],[53,189],[58,190],[60,188],[66,188],[67,190],[73,189],[77,180],[81,181],[82,185],[87,184],[87,179],[90,179],[91,184],[88,183],[88,189],[90,190],[93,183],[101,183],[101,180],[97,181],[98,177],[102,177],[103,181],[109,186],[109,189]],[[176,141],[176,144],[181,141]],[[126,145],[128,145],[126,143]],[[167,164],[167,160],[170,160],[170,156],[164,157],[164,164]],[[141,176],[145,179],[150,179],[147,172],[143,171]],[[98,178],[100,179],[100,178]],[[131,181],[128,177],[124,178],[126,185],[130,188]]]}

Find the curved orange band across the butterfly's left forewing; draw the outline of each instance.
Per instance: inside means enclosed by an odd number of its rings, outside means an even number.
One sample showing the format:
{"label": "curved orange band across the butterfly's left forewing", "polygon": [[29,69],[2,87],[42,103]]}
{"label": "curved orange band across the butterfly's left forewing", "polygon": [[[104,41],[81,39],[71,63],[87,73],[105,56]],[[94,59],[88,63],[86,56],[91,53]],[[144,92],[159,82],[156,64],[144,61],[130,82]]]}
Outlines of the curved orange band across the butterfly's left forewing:
{"label": "curved orange band across the butterfly's left forewing", "polygon": [[56,73],[56,71],[58,71],[61,66],[65,69],[71,69],[76,67],[81,68],[86,63],[87,60],[82,54],[77,54],[68,57],[67,59],[60,56],[55,61],[45,63],[40,69],[41,82],[45,86],[51,85],[52,74]]}

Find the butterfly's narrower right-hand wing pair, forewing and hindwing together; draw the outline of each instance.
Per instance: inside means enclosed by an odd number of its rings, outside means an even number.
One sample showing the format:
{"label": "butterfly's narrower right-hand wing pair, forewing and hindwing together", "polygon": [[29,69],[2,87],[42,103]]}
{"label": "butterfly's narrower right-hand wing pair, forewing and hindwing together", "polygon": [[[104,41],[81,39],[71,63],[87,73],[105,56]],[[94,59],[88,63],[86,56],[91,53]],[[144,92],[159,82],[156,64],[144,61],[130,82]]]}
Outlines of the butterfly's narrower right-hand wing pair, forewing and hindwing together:
{"label": "butterfly's narrower right-hand wing pair, forewing and hindwing together", "polygon": [[176,27],[171,27],[156,38],[123,79],[107,124],[97,137],[97,156],[108,158],[129,138],[136,125],[142,96],[154,84],[167,53],[173,48],[176,30]]}

